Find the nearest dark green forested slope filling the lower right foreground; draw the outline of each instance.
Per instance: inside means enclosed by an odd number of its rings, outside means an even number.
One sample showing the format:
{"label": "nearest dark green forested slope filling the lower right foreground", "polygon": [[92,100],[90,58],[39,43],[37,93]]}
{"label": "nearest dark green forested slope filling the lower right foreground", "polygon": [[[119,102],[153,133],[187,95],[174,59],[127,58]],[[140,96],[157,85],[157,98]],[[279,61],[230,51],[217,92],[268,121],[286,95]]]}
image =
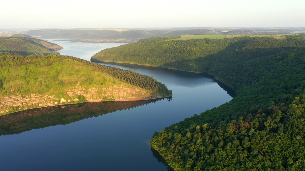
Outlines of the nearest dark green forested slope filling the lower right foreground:
{"label": "nearest dark green forested slope filling the lower right foreground", "polygon": [[178,171],[303,170],[304,61],[300,48],[217,67],[238,95],[155,132],[152,147]]}

